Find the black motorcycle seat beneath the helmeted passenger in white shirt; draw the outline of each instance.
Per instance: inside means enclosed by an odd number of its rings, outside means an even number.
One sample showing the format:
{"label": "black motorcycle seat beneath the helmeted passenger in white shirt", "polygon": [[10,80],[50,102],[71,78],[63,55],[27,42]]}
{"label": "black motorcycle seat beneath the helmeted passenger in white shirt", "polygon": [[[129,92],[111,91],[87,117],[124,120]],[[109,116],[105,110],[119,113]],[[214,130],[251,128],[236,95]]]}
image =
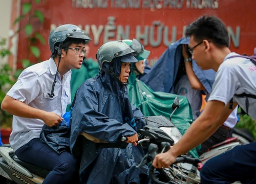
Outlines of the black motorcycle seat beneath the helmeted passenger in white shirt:
{"label": "black motorcycle seat beneath the helmeted passenger in white shirt", "polygon": [[19,165],[22,165],[23,167],[25,167],[26,169],[28,169],[30,172],[37,174],[38,176],[41,177],[46,177],[49,174],[49,170],[47,169],[43,169],[39,166],[24,162],[20,159],[18,159],[18,157],[16,155],[13,156],[13,160],[18,163]]}

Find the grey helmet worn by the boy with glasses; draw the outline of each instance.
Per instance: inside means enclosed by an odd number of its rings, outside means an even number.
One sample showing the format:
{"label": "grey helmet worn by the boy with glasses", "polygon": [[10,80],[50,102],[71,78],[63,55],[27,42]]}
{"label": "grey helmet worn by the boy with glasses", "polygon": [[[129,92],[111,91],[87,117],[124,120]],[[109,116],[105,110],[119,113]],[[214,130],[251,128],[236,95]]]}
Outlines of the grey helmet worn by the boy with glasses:
{"label": "grey helmet worn by the boy with glasses", "polygon": [[[54,29],[49,36],[49,48],[51,53],[54,53],[56,43],[63,42],[67,38],[79,38],[85,40],[92,40],[80,28],[75,25],[62,25]],[[61,49],[61,48],[60,48]]]}

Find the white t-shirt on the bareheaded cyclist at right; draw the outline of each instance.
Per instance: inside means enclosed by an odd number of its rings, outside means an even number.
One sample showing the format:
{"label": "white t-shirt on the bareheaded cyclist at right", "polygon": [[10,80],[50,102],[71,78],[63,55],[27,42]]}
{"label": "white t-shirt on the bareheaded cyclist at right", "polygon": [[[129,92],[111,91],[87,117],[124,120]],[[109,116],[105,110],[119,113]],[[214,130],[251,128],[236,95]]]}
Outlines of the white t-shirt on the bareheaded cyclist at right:
{"label": "white t-shirt on the bareheaded cyclist at right", "polygon": [[[256,65],[246,58],[235,57],[228,59],[228,57],[234,55],[238,54],[228,54],[220,65],[215,76],[209,101],[218,100],[226,105],[235,94],[256,95]],[[245,99],[245,97],[234,96],[233,101],[238,102],[241,108],[246,110]],[[249,109],[247,113],[256,120],[256,99],[248,98],[248,100]]]}

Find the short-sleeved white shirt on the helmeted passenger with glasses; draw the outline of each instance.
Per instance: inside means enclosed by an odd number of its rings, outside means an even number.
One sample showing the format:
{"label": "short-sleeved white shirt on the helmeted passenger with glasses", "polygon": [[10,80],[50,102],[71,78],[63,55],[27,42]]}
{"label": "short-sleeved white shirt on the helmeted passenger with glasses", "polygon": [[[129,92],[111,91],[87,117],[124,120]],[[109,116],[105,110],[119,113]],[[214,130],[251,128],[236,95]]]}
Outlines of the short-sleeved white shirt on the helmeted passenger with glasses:
{"label": "short-sleeved white shirt on the helmeted passenger with glasses", "polygon": [[[48,93],[51,94],[56,70],[57,67],[52,58],[26,68],[7,95],[31,107],[55,112],[62,116],[66,112],[67,105],[71,103],[71,71],[63,75],[62,80],[60,75],[57,75],[54,97],[50,98]],[[13,150],[16,151],[32,139],[39,137],[44,124],[39,119],[13,116],[12,133],[10,135],[10,145]]]}

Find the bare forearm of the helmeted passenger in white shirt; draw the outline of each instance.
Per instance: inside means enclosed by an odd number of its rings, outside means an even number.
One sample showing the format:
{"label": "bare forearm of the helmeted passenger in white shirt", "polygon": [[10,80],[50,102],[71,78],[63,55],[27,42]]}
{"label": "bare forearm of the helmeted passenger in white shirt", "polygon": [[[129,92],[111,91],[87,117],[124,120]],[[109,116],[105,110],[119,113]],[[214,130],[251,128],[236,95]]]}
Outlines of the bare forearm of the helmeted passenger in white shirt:
{"label": "bare forearm of the helmeted passenger in white shirt", "polygon": [[6,96],[3,100],[2,109],[13,114],[14,116],[22,118],[40,119],[44,117],[44,110],[30,107],[29,105]]}

